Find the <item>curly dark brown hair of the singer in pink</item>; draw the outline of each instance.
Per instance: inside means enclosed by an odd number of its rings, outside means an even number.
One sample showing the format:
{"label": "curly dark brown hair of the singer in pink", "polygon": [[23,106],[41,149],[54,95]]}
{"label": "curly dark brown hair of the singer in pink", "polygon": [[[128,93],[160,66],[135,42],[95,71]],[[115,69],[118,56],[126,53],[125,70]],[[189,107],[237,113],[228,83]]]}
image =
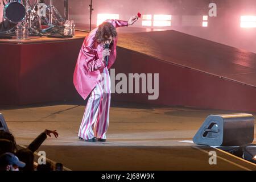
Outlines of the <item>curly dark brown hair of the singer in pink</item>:
{"label": "curly dark brown hair of the singer in pink", "polygon": [[98,43],[102,43],[104,42],[104,40],[106,40],[106,38],[109,38],[109,36],[115,38],[117,36],[117,31],[115,31],[115,27],[112,23],[103,22],[102,24],[100,24],[100,26],[98,26],[95,39]]}

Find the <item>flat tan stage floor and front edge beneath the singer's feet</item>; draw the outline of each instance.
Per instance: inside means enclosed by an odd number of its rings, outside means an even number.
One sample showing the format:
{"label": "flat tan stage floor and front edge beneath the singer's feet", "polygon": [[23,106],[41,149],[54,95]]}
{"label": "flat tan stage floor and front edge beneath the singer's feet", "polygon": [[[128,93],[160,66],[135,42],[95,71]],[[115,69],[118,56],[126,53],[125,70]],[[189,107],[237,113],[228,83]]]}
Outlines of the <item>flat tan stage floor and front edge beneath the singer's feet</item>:
{"label": "flat tan stage floor and front edge beneath the singer's feet", "polygon": [[[256,170],[255,164],[191,143],[209,114],[234,111],[113,103],[108,141],[89,143],[77,137],[84,105],[0,106],[0,113],[21,147],[44,129],[56,129],[59,138],[48,137],[39,151],[46,151],[48,159],[63,163],[65,169]],[[217,165],[209,165],[209,151],[217,152]]]}

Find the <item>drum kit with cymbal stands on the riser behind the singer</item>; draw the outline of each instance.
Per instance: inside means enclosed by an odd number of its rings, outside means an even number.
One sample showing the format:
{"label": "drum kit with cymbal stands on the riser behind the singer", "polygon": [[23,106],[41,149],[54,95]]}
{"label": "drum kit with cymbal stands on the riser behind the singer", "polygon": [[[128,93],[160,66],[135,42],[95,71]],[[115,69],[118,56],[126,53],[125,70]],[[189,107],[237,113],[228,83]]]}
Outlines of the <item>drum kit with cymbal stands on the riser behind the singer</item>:
{"label": "drum kit with cymbal stands on the riser behind the singer", "polygon": [[[32,3],[32,1],[34,3]],[[19,22],[27,23],[30,35],[42,36],[44,29],[55,26],[64,26],[65,19],[53,6],[53,0],[49,5],[42,0],[9,0],[3,2],[3,22],[11,24],[6,30],[0,29],[0,34],[8,34],[15,31]]]}

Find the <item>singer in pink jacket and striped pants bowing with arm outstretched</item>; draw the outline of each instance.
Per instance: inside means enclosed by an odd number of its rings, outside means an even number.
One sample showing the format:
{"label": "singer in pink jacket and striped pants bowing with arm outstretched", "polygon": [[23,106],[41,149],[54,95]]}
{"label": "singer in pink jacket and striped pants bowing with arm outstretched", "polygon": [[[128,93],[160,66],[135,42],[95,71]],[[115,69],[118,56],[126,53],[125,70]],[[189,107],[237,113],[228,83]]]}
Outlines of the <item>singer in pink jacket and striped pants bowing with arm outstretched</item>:
{"label": "singer in pink jacket and striped pants bowing with arm outstretched", "polygon": [[117,57],[115,28],[130,26],[138,15],[128,21],[106,20],[86,36],[73,76],[73,84],[84,100],[89,96],[82,117],[79,139],[86,142],[106,141],[109,126],[110,76],[108,69]]}

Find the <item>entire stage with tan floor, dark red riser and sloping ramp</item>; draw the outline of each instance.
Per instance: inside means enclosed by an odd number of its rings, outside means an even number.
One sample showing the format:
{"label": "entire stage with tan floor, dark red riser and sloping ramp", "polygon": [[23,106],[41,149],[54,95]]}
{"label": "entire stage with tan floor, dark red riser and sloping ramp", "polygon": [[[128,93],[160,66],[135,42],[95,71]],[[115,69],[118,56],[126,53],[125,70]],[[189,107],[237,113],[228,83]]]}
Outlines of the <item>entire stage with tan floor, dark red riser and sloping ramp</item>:
{"label": "entire stage with tan floor, dark red riser and sloping ramp", "polygon": [[[113,93],[108,140],[88,143],[77,136],[86,101],[73,86],[87,34],[0,40],[0,113],[20,148],[44,129],[56,129],[60,137],[47,138],[39,151],[65,170],[256,169],[219,148],[192,143],[210,114],[255,115],[255,53],[174,30],[119,28],[112,71],[159,73],[159,98]],[[209,165],[209,151],[217,152],[217,165]]]}

